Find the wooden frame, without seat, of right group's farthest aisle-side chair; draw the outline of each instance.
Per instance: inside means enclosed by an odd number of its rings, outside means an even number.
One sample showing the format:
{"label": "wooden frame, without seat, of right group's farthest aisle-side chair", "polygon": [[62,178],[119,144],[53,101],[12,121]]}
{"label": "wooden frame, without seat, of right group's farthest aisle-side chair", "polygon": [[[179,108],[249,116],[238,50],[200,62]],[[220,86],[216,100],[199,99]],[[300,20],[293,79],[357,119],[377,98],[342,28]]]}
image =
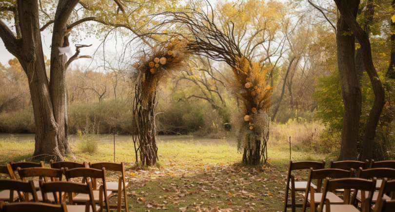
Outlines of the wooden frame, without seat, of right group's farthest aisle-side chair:
{"label": "wooden frame, without seat, of right group's farthest aisle-side chair", "polygon": [[[323,169],[325,168],[325,161],[297,161],[293,162],[292,160],[289,162],[289,169],[287,175],[287,182],[285,188],[285,203],[284,203],[284,212],[287,211],[287,208],[291,207],[292,212],[296,211],[296,207],[303,207],[303,203],[296,204],[296,190],[295,190],[295,176],[292,174],[292,171],[295,170],[308,170],[310,168],[315,169]],[[291,189],[290,189],[291,184]],[[308,185],[309,186],[309,185]],[[291,204],[288,204],[288,196],[289,190],[291,190]],[[303,190],[304,192],[304,190]]]}

